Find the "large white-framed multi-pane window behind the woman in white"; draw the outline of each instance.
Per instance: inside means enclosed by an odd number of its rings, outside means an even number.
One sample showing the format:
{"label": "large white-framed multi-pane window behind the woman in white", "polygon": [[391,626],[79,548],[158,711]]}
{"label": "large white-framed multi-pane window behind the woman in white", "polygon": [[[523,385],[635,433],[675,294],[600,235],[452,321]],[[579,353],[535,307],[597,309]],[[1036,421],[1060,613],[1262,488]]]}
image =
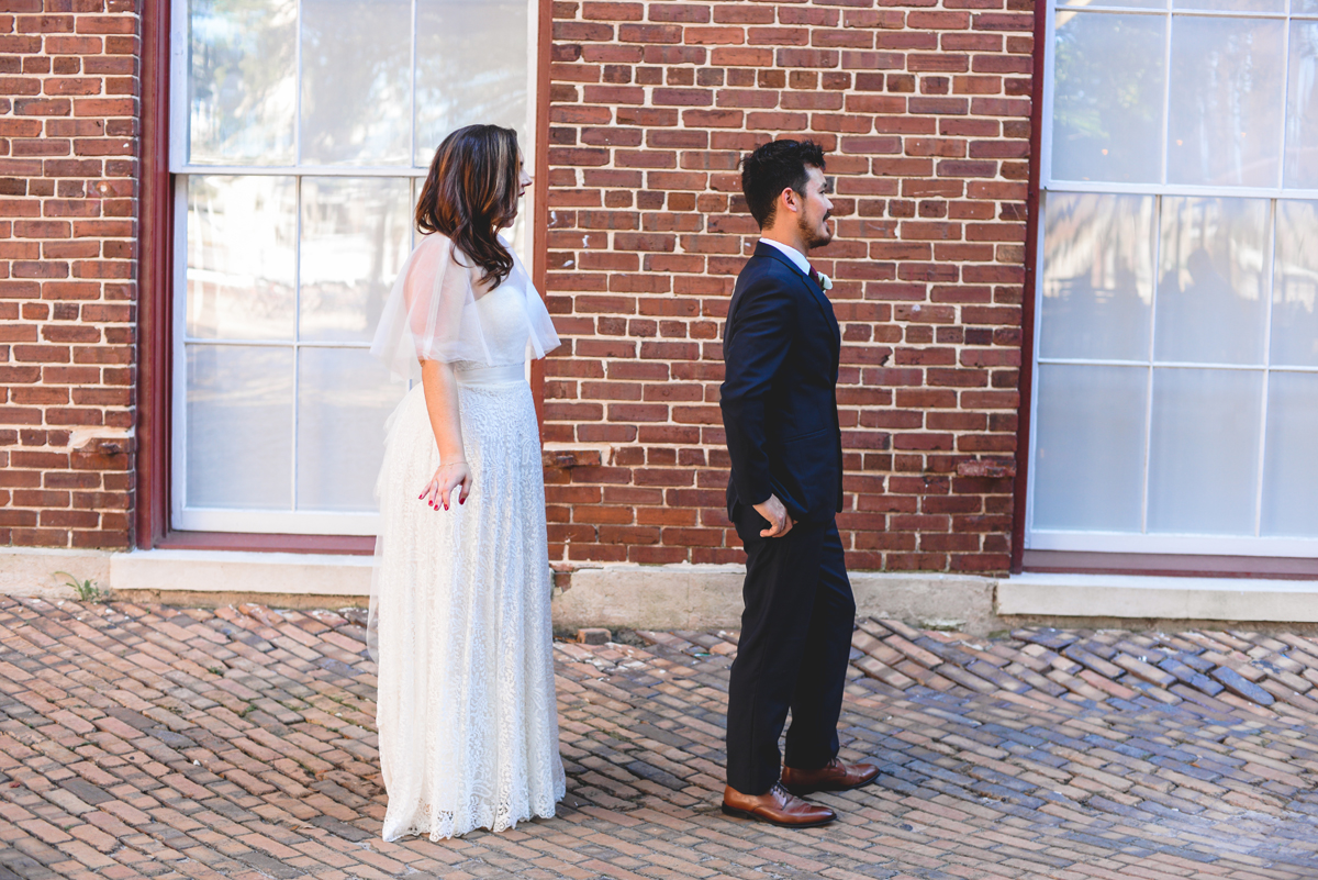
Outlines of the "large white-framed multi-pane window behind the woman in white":
{"label": "large white-framed multi-pane window behind the woman in white", "polygon": [[174,528],[373,534],[370,337],[439,141],[534,162],[532,3],[177,0]]}

